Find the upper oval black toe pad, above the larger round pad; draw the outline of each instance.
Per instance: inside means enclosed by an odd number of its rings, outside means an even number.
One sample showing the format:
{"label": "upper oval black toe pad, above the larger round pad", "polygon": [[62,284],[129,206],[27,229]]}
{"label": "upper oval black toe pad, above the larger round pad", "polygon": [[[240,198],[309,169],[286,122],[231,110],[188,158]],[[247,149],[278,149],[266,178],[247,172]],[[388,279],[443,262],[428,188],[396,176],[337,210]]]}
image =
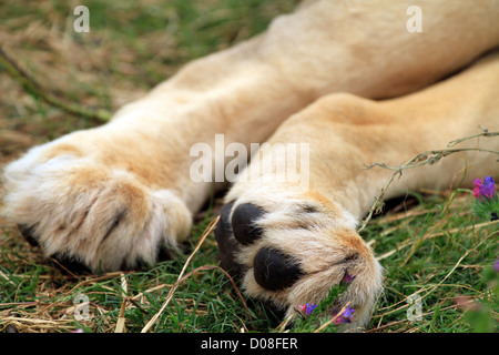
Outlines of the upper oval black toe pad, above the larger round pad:
{"label": "upper oval black toe pad, above the larger round pad", "polygon": [[264,214],[264,211],[252,203],[244,203],[232,214],[232,230],[234,236],[243,245],[249,245],[262,236],[262,229],[254,222]]}

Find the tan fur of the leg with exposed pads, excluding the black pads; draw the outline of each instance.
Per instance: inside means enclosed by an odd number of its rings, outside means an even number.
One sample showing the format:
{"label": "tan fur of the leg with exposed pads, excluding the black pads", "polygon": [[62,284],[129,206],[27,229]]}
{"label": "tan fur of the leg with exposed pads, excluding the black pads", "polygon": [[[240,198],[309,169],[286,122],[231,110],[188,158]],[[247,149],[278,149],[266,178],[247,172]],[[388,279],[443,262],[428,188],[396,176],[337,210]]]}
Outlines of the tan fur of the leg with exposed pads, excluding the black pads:
{"label": "tan fur of the leg with exposed pads, excluding the black pads", "polygon": [[[254,203],[268,212],[258,221],[265,226],[264,241],[244,247],[240,263],[252,267],[248,261],[261,247],[274,247],[297,256],[309,267],[308,274],[287,292],[272,293],[256,284],[249,271],[244,280],[247,292],[279,305],[297,306],[324,297],[327,294],[324,285],[337,283],[347,267],[357,277],[352,288],[356,291],[350,290],[346,298],[356,306],[355,325],[363,324],[380,291],[381,275],[373,253],[355,230],[394,173],[365,166],[375,162],[399,166],[418,153],[445,149],[456,138],[479,133],[479,126],[497,132],[498,94],[499,52],[496,52],[462,73],[407,97],[376,102],[352,94],[330,94],[289,118],[267,142],[310,142],[310,191],[304,194],[288,183],[263,186],[265,176],[258,176],[236,183],[226,200]],[[471,145],[457,145],[462,146],[498,150],[499,143],[483,139]],[[449,187],[452,181],[461,181],[465,166],[467,185],[476,176],[499,174],[495,154],[459,153],[437,165],[405,171],[387,196],[422,187]],[[301,201],[320,206],[322,221],[299,212],[282,215]],[[293,223],[313,225],[315,230],[303,231]],[[348,250],[355,250],[360,258],[338,264]],[[328,272],[318,273],[320,270]],[[315,286],[310,288],[310,284]],[[293,314],[293,307],[288,314]]]}

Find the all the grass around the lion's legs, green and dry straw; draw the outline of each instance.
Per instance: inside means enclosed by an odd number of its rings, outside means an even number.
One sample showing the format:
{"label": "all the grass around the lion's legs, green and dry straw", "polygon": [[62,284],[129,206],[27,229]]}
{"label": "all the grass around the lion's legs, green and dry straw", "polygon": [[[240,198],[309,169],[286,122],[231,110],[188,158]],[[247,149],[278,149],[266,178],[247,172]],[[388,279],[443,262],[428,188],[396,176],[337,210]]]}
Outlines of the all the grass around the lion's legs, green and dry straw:
{"label": "all the grass around the lion's legs, green and dry straw", "polygon": [[[0,42],[55,94],[113,111],[187,60],[264,30],[293,3],[84,1],[78,4],[90,9],[91,32],[75,33],[71,2],[9,2],[0,6]],[[100,124],[45,104],[1,68],[0,93],[0,165],[33,144]],[[472,200],[466,190],[414,193],[366,225],[361,235],[385,267],[385,293],[367,332],[497,332],[498,222],[475,216]],[[197,244],[218,207],[213,199],[196,216],[185,254],[146,271],[102,275],[54,265],[0,220],[0,332],[141,332],[155,315],[154,333],[281,331],[217,266],[213,234]],[[414,294],[421,318],[411,322]],[[75,316],[83,314],[78,295],[90,302],[88,318]]]}

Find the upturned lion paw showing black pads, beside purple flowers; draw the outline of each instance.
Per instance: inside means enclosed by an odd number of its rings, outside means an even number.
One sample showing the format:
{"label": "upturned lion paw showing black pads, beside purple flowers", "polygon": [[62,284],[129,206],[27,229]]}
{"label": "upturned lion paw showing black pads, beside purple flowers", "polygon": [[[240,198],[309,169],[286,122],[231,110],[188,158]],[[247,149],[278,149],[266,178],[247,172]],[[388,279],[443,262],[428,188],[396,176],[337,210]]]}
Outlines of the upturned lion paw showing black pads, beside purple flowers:
{"label": "upturned lion paw showing black pads, beside purple flowers", "polygon": [[222,207],[215,230],[222,266],[241,276],[247,295],[286,316],[319,303],[348,271],[355,278],[332,310],[348,303],[355,308],[348,326],[365,326],[383,285],[370,248],[334,205],[276,194],[247,193]]}

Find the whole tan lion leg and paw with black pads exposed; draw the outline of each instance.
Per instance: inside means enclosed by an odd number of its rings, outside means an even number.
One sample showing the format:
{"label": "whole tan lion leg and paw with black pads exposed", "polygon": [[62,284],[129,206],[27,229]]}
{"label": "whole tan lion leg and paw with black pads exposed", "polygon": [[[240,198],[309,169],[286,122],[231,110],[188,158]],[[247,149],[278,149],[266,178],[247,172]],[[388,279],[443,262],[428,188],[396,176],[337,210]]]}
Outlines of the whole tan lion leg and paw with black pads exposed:
{"label": "whole tan lion leg and paw with black pads exposed", "polygon": [[[286,170],[282,166],[293,151],[258,152],[262,156],[252,161],[221,210],[216,237],[222,265],[241,274],[248,295],[269,301],[287,315],[299,304],[318,303],[346,270],[356,277],[340,302],[355,308],[349,326],[364,326],[383,277],[356,230],[394,173],[365,166],[375,162],[399,166],[419,153],[480,133],[480,126],[498,131],[498,93],[496,52],[414,94],[379,102],[330,94],[296,113],[267,143],[272,148],[306,144],[308,159],[301,151],[297,169]],[[481,138],[454,148],[498,151],[499,141]],[[253,164],[262,165],[257,174]],[[420,187],[449,187],[462,180],[465,168],[468,185],[477,176],[499,174],[497,154],[462,151],[404,171],[387,197]],[[305,184],[299,180],[304,176]]]}

